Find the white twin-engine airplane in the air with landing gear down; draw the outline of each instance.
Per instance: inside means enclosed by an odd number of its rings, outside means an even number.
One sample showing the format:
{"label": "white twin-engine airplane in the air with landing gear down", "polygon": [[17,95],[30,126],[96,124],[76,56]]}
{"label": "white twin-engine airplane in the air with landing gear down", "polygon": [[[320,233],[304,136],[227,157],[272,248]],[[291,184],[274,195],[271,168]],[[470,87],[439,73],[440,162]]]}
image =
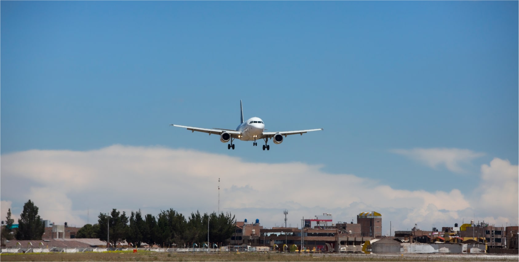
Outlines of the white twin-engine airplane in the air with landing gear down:
{"label": "white twin-engine airplane in the air with landing gear down", "polygon": [[197,127],[186,127],[186,126],[179,126],[179,125],[173,125],[170,126],[173,127],[180,127],[180,128],[186,128],[187,130],[191,130],[191,132],[204,132],[211,134],[217,134],[220,135],[220,141],[222,143],[227,143],[230,141],[229,144],[227,144],[227,149],[233,148],[234,150],[234,144],[233,141],[235,139],[239,139],[241,141],[254,141],[252,144],[253,146],[257,146],[258,143],[256,140],[263,139],[265,141],[265,145],[263,145],[263,150],[267,149],[270,150],[270,145],[267,145],[268,139],[271,139],[274,141],[274,144],[281,144],[283,142],[283,136],[287,135],[293,135],[293,134],[301,134],[311,131],[319,131],[323,130],[322,128],[319,129],[307,129],[307,130],[297,130],[297,131],[283,131],[283,132],[265,132],[265,123],[263,120],[259,117],[251,117],[247,119],[247,121],[243,121],[243,104],[240,100],[240,111],[241,111],[241,123],[236,128],[236,130],[232,129],[223,129],[223,128],[197,128]]}

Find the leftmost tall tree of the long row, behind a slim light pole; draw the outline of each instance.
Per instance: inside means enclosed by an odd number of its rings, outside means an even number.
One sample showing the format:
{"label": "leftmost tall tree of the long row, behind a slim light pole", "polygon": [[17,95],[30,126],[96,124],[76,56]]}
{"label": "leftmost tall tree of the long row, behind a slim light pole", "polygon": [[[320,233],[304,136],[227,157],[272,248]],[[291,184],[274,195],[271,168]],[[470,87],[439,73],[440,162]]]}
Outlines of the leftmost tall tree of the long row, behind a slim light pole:
{"label": "leftmost tall tree of the long row, behind a slim light pole", "polygon": [[[98,237],[100,240],[106,241],[110,237],[108,241],[110,241],[112,247],[116,247],[118,242],[126,240],[129,232],[126,212],[123,211],[121,214],[117,209],[113,209],[109,216],[99,213],[98,218]],[[110,236],[108,236],[107,231],[108,224],[110,224]]]}

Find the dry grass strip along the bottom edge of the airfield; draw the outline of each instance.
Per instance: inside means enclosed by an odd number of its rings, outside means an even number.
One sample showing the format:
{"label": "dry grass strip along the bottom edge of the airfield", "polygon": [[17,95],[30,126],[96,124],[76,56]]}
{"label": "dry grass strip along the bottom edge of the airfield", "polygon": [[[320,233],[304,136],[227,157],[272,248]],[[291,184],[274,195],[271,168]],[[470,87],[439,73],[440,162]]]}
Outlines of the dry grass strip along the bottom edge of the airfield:
{"label": "dry grass strip along the bottom edge of the airfield", "polygon": [[394,254],[280,254],[280,253],[165,253],[139,251],[88,253],[17,253],[2,254],[1,261],[517,261],[509,257],[489,258],[484,255],[442,256]]}

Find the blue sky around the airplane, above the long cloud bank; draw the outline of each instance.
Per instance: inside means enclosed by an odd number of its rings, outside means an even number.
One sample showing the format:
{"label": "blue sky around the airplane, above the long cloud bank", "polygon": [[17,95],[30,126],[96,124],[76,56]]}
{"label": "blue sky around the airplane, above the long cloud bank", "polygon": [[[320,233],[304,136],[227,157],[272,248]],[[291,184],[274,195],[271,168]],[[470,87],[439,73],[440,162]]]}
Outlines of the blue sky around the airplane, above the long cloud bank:
{"label": "blue sky around the airplane, above the long cloud bank", "polygon": [[[297,162],[331,180],[352,174],[466,198],[481,185],[483,165],[498,158],[517,166],[517,2],[0,7],[3,182],[5,159],[17,154],[113,145],[196,150],[244,167]],[[235,128],[240,99],[245,118],[261,117],[269,131],[324,131],[289,136],[269,151],[252,142],[227,150],[217,136],[168,126]],[[20,209],[33,196],[9,195],[6,184],[3,206]],[[63,194],[79,212],[72,193]],[[517,212],[507,219],[516,224]]]}

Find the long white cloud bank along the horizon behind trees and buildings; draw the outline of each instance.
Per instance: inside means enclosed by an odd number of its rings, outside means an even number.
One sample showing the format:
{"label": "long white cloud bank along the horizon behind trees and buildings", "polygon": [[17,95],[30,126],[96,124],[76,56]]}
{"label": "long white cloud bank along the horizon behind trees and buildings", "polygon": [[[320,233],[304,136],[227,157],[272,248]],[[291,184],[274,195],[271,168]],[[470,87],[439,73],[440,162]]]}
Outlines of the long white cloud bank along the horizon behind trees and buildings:
{"label": "long white cloud bank along the horizon behind trees and buildings", "polygon": [[[186,217],[219,208],[237,220],[260,219],[266,227],[283,224],[284,209],[294,227],[303,217],[322,213],[332,213],[334,221],[356,221],[360,212],[377,211],[383,214],[383,232],[389,234],[390,220],[393,230],[415,223],[428,228],[459,223],[468,213],[472,217],[474,209],[472,199],[458,189],[393,189],[352,174],[328,174],[321,166],[245,162],[186,149],[114,145],[91,151],[29,150],[2,155],[1,160],[3,216],[4,205],[21,207],[31,199],[43,219],[71,226],[95,223],[100,212],[113,208],[153,215],[172,208]],[[482,168],[482,181],[509,170],[499,160]],[[517,198],[517,187],[506,194]],[[517,212],[507,219],[517,220]]]}

